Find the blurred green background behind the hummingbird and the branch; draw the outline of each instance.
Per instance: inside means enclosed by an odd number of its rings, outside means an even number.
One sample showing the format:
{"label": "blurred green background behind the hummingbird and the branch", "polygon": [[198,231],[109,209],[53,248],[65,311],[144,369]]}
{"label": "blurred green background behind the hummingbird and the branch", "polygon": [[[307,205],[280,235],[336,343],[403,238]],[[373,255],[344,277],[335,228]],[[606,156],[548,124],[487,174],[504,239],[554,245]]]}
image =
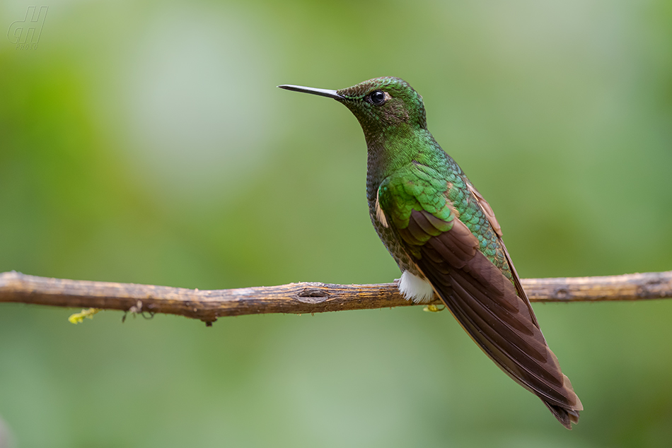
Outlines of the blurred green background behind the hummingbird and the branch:
{"label": "blurred green background behind the hummingbird and the branch", "polygon": [[[0,4],[4,33],[24,1]],[[337,102],[400,76],[523,277],[672,269],[672,6],[59,1],[0,36],[0,271],[237,288],[383,283]],[[448,312],[224,318],[0,305],[18,447],[668,447],[672,301],[535,305],[572,432]]]}

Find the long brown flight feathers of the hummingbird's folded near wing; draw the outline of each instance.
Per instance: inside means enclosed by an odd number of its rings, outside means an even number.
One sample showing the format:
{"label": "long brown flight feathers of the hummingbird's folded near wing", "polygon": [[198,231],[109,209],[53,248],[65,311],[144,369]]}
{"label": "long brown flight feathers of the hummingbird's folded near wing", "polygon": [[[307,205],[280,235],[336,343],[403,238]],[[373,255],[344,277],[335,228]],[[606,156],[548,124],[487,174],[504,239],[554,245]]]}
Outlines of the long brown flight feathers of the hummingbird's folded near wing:
{"label": "long brown flight feathers of the hummingbird's folded near wing", "polygon": [[520,282],[516,288],[478,250],[478,240],[458,218],[451,230],[438,235],[436,220],[414,210],[407,228],[398,230],[406,244],[415,246],[409,252],[419,254],[413,257],[418,268],[489,358],[571,429],[581,401],[548,348]]}

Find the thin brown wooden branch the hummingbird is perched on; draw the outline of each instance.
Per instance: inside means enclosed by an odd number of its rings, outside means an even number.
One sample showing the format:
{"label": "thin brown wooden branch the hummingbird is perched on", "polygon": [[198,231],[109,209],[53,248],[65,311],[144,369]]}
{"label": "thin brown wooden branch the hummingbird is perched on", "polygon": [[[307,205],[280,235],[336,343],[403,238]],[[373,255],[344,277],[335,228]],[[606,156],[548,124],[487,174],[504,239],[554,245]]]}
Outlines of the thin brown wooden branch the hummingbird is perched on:
{"label": "thin brown wooden branch the hummingbird is perched on", "polygon": [[[533,302],[672,298],[672,271],[605,277],[526,278],[522,282]],[[192,290],[46,278],[14,271],[0,274],[0,302],[178,314],[201,319],[208,324],[218,317],[242,314],[303,314],[413,305],[401,297],[393,283],[289,283],[228,290]]]}

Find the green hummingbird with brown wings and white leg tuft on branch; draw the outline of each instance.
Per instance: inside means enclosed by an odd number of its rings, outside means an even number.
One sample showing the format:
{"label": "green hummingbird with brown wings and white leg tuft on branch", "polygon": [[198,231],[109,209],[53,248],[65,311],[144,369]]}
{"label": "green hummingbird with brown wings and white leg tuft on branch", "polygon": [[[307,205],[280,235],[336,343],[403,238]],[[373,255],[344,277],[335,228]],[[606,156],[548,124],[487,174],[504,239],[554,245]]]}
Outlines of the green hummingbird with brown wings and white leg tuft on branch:
{"label": "green hummingbird with brown wings and white leg tuft on branch", "polygon": [[341,90],[278,86],[333,98],[367,147],[373,227],[402,271],[400,293],[441,299],[483,352],[571,430],[583,410],[541,333],[492,207],[427,129],[424,102],[400,78]]}

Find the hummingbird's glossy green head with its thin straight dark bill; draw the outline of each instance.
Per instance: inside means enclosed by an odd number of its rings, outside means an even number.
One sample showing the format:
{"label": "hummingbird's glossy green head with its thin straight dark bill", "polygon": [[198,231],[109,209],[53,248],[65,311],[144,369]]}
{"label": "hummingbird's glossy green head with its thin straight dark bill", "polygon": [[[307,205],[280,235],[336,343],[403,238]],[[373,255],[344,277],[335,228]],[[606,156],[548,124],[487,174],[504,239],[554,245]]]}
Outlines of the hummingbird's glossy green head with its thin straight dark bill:
{"label": "hummingbird's glossy green head with its thin straight dark bill", "polygon": [[422,96],[400,78],[373,78],[341,90],[278,87],[334,98],[357,117],[364,134],[385,134],[390,129],[406,126],[427,128]]}

